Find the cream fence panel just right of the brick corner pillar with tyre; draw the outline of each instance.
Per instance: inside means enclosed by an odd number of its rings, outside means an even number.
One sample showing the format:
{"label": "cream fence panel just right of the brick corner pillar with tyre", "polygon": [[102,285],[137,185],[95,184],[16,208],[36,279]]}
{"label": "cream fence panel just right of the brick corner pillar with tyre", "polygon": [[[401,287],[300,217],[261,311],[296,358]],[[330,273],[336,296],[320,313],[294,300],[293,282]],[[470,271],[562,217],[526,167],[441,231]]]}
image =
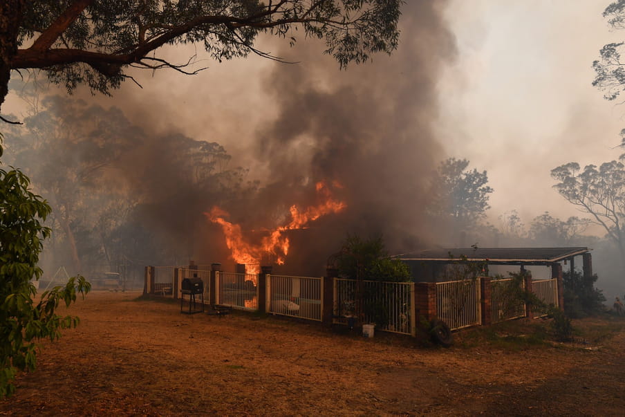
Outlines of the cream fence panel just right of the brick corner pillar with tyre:
{"label": "cream fence panel just right of the brick corner pillar with tyre", "polygon": [[437,282],[436,312],[451,330],[481,324],[480,279]]}

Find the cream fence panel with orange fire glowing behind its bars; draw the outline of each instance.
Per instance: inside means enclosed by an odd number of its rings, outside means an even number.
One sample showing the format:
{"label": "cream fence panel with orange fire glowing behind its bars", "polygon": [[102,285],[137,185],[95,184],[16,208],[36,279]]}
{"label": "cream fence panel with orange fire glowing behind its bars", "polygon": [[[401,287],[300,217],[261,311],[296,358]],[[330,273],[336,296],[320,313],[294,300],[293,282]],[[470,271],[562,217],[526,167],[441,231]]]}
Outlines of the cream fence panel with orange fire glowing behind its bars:
{"label": "cream fence panel with orange fire glowing behind its bars", "polygon": [[216,304],[241,310],[259,308],[259,288],[256,274],[216,272]]}

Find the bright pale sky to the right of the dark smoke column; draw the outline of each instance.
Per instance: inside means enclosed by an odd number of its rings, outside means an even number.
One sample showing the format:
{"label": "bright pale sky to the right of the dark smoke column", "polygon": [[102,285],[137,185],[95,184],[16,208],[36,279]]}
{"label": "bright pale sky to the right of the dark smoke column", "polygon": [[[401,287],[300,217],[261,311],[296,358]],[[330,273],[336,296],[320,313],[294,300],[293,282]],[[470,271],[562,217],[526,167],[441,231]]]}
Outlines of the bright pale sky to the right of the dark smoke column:
{"label": "bright pale sky to the right of the dark smoke column", "polygon": [[599,165],[625,127],[625,106],[591,85],[599,49],[611,33],[608,1],[457,0],[447,16],[458,57],[440,79],[441,141],[451,156],[486,169],[490,215],[516,208],[527,224],[545,210],[575,209],[554,192],[550,169]]}

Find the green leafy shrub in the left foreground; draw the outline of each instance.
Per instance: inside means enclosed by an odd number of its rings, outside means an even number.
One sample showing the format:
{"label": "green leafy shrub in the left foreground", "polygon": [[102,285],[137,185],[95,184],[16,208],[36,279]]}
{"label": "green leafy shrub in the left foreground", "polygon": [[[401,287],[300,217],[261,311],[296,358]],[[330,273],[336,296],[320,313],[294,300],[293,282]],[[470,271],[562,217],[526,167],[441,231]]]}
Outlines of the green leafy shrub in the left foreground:
{"label": "green leafy shrub in the left foreground", "polygon": [[61,329],[78,324],[77,317],[57,315],[59,304],[69,306],[77,293],[91,289],[84,277],[74,277],[35,303],[31,279],[42,274],[37,261],[50,229],[41,222],[50,206],[29,185],[19,169],[0,169],[0,396],[15,391],[12,380],[18,370],[35,369],[35,340],[56,340]]}

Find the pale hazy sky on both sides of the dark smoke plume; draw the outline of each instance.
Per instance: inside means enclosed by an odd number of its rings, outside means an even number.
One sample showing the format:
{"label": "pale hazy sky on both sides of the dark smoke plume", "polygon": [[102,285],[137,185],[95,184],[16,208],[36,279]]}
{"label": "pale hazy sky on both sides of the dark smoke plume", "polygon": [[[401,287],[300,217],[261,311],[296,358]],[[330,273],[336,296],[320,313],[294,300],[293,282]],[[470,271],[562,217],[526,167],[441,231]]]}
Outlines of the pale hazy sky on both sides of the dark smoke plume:
{"label": "pale hazy sky on both sides of the dark smoke plume", "polygon": [[[570,161],[599,165],[619,156],[620,149],[613,147],[625,127],[625,106],[607,102],[590,85],[590,66],[599,48],[625,38],[625,32],[611,33],[601,16],[608,3],[448,2],[445,16],[457,51],[438,80],[432,80],[439,92],[438,103],[432,103],[439,119],[433,124],[447,156],[467,158],[471,167],[487,170],[495,190],[489,210],[495,225],[499,215],[514,209],[526,224],[545,211],[562,217],[578,214],[552,189],[550,169]],[[279,50],[267,40],[261,48]],[[167,55],[183,62],[189,51],[193,48],[176,48]],[[286,58],[297,60],[297,48]],[[321,46],[319,59],[338,73],[332,59],[321,57]],[[181,130],[220,142],[236,165],[250,167],[250,178],[262,178],[263,161],[256,159],[252,142],[263,123],[276,116],[277,104],[265,84],[272,68],[284,64],[250,57],[200,65],[209,69],[193,77],[144,71],[138,75],[144,89],[127,82],[113,98],[96,100],[122,107],[131,120],[155,131]],[[321,89],[327,81],[327,73],[305,80]],[[4,113],[11,112],[10,103]]]}

